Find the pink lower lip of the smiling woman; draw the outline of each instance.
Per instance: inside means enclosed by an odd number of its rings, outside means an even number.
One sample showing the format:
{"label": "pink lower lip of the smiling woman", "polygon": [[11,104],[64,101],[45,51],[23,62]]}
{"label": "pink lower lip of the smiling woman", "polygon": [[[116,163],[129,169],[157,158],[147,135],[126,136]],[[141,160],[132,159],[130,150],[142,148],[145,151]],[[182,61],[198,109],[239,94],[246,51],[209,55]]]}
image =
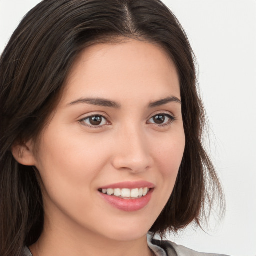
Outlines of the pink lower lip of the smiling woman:
{"label": "pink lower lip of the smiling woman", "polygon": [[150,189],[145,196],[136,199],[123,199],[114,195],[107,195],[99,192],[104,200],[113,207],[123,211],[136,211],[144,208],[151,199],[153,189]]}

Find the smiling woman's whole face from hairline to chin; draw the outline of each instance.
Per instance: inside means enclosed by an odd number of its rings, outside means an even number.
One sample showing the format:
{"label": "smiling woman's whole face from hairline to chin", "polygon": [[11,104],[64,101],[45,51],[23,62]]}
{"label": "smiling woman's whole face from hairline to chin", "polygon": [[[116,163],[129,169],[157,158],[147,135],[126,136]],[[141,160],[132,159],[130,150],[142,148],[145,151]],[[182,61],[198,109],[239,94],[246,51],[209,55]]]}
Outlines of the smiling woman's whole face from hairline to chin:
{"label": "smiling woman's whole face from hairline to chin", "polygon": [[44,231],[142,237],[170,197],[184,146],[178,75],[165,52],[136,40],[86,48],[34,155]]}

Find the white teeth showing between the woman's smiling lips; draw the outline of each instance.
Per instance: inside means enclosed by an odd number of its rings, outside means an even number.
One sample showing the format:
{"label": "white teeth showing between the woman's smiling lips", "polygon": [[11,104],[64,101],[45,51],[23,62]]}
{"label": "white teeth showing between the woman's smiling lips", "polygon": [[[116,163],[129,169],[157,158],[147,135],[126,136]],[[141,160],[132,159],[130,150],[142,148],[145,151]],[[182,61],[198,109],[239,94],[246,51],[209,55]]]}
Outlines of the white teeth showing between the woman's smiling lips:
{"label": "white teeth showing between the woman's smiling lips", "polygon": [[140,188],[100,188],[99,192],[111,196],[116,196],[123,199],[138,199],[145,196],[152,188],[140,187]]}

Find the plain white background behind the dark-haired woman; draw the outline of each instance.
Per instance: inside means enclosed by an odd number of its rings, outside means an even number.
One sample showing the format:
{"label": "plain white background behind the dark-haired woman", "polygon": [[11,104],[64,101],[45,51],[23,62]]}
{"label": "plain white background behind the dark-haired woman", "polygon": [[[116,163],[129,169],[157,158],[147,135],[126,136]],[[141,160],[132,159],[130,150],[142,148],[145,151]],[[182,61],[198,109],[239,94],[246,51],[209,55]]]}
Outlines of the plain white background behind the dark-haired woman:
{"label": "plain white background behind the dark-haired woman", "polygon": [[[39,0],[0,0],[0,52]],[[163,0],[183,25],[198,62],[210,122],[210,154],[224,186],[224,220],[208,233],[171,240],[204,252],[256,255],[256,0]]]}

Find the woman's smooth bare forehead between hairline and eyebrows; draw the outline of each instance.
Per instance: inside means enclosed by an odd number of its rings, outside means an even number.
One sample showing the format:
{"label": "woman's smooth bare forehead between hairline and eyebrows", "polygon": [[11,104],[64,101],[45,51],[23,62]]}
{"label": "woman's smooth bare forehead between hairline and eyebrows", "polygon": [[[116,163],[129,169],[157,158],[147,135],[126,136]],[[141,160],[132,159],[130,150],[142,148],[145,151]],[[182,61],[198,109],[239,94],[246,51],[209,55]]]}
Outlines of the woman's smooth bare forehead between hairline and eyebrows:
{"label": "woman's smooth bare forehead between hairline and eyebrows", "polygon": [[62,101],[89,97],[180,98],[176,67],[157,44],[129,40],[85,48],[66,80]]}

